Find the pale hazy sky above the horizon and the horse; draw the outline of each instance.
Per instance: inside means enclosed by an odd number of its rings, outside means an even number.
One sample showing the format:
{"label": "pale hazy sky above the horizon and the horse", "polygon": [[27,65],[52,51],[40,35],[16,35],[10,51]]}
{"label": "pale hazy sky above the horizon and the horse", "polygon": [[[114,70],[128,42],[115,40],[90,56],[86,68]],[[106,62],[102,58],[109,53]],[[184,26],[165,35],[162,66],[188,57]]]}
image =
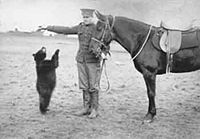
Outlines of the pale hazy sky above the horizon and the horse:
{"label": "pale hazy sky above the horizon and the horse", "polygon": [[34,31],[39,25],[73,26],[82,21],[80,9],[95,8],[159,26],[189,25],[200,20],[200,0],[0,0],[0,31]]}

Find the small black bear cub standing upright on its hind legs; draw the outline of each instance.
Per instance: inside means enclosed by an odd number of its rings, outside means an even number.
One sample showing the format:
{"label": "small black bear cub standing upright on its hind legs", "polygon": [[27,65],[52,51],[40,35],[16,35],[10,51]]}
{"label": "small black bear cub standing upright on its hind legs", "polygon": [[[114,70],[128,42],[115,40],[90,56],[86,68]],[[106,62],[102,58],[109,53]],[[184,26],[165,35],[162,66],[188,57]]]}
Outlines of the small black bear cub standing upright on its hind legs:
{"label": "small black bear cub standing upright on its hind legs", "polygon": [[37,81],[36,88],[39,93],[40,112],[45,114],[49,106],[52,92],[56,86],[56,68],[58,67],[57,49],[51,60],[45,60],[46,48],[42,47],[39,51],[33,54],[36,63]]}

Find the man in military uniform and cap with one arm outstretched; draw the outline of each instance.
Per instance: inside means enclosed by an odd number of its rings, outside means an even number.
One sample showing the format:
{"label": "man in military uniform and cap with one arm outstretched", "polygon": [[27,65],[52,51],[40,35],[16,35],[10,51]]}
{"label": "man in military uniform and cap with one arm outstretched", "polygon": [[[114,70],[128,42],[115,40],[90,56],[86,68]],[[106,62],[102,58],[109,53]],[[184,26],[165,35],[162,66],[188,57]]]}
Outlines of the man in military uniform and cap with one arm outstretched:
{"label": "man in military uniform and cap with one arm outstretched", "polygon": [[83,22],[73,27],[47,26],[39,30],[48,30],[60,34],[77,34],[79,50],[76,61],[78,68],[79,88],[83,91],[83,109],[76,115],[88,115],[89,118],[98,116],[98,101],[101,77],[101,57],[96,57],[89,51],[89,43],[95,28],[93,9],[81,9]]}

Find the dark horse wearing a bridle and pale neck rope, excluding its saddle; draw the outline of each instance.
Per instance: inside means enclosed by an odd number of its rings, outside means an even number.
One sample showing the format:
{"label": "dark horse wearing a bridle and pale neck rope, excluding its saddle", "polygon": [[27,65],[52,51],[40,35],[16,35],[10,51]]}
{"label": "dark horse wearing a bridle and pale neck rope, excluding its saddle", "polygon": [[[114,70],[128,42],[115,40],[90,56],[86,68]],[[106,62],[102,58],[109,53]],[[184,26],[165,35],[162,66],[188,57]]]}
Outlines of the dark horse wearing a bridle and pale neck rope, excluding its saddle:
{"label": "dark horse wearing a bridle and pale neck rope, excluding its saddle", "polygon": [[[98,21],[90,45],[106,47],[114,40],[131,55],[135,68],[143,75],[147,88],[149,105],[143,122],[152,122],[156,115],[156,76],[166,74],[167,68],[167,54],[153,43],[161,27],[123,16],[104,15],[98,11],[95,14]],[[184,48],[182,45],[185,43],[181,44],[181,49],[173,54],[172,73],[200,69],[200,31],[196,32],[199,37],[198,43]]]}

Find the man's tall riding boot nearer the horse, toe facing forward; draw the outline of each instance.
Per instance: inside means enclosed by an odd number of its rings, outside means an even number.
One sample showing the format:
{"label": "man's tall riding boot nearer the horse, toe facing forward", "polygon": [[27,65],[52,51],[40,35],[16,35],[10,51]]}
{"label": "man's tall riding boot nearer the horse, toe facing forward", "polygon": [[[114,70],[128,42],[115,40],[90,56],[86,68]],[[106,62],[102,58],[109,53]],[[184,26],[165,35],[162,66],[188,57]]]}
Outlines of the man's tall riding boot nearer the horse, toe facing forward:
{"label": "man's tall riding boot nearer the horse, toe facing forward", "polygon": [[91,93],[91,113],[88,118],[96,118],[98,114],[98,107],[99,107],[99,92],[92,92]]}

